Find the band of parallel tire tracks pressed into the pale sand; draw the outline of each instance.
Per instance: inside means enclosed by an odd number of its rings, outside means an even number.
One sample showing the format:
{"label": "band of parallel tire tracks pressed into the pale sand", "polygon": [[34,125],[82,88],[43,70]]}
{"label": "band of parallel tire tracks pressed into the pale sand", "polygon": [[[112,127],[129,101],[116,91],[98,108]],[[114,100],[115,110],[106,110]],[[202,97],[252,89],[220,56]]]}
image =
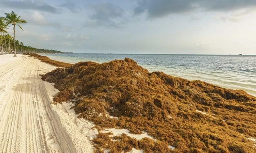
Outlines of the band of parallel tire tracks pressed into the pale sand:
{"label": "band of parallel tire tracks pressed into the pale sand", "polygon": [[0,66],[0,79],[9,78],[10,92],[3,92],[6,105],[0,112],[0,153],[73,153],[73,142],[51,109],[43,69],[54,69],[31,57]]}

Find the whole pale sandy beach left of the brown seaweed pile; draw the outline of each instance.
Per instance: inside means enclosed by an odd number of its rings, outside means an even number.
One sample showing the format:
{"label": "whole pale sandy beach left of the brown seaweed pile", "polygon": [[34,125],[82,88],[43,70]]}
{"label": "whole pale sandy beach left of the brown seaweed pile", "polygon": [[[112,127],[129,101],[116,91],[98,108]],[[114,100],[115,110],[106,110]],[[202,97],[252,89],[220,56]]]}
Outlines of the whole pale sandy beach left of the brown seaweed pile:
{"label": "whole pale sandy beach left of the brown seaweed pile", "polygon": [[[78,126],[73,112],[70,115],[62,105],[55,106],[58,113],[52,109],[51,96],[57,91],[39,74],[55,68],[27,55],[0,55],[0,153],[93,151],[91,138],[81,140],[76,138],[79,133],[67,133],[70,126],[85,132],[84,123]],[[75,122],[67,122],[67,118],[65,121],[66,116]],[[84,126],[87,125],[92,126],[89,122]]]}

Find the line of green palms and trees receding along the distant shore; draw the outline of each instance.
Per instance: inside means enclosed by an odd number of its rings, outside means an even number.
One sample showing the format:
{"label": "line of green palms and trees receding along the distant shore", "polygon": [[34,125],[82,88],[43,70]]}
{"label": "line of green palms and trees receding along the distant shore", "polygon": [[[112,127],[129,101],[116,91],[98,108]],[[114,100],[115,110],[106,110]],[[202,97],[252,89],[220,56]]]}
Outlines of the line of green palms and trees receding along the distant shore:
{"label": "line of green palms and trees receding along the distant shore", "polygon": [[[16,53],[62,53],[57,50],[25,46],[21,41],[15,39],[15,28],[18,27],[23,30],[20,26],[22,23],[27,23],[27,21],[21,19],[13,11],[11,13],[5,13],[5,17],[0,17],[0,54],[14,53],[14,57],[17,57]],[[10,27],[13,28],[13,36],[6,31]]]}

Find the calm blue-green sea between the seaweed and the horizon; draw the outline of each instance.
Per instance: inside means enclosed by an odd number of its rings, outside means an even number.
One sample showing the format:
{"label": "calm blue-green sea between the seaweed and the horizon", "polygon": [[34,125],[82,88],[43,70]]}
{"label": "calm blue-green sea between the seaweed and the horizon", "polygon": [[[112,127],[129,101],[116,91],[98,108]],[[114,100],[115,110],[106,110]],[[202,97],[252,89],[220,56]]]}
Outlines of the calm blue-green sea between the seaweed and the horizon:
{"label": "calm blue-green sea between the seaweed and the horizon", "polygon": [[149,71],[201,80],[225,88],[242,89],[256,96],[256,56],[253,55],[160,55],[160,54],[43,54],[53,60],[77,63],[109,62],[125,57]]}

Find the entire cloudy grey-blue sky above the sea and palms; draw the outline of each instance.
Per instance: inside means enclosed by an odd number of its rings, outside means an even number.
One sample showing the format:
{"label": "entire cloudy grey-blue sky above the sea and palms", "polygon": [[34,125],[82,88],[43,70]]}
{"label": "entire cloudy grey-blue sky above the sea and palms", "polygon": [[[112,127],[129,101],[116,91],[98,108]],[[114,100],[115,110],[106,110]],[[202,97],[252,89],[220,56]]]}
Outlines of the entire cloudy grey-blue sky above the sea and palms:
{"label": "entire cloudy grey-blue sky above the sea and palms", "polygon": [[256,0],[0,0],[0,16],[12,10],[28,22],[16,30],[26,46],[256,55]]}

